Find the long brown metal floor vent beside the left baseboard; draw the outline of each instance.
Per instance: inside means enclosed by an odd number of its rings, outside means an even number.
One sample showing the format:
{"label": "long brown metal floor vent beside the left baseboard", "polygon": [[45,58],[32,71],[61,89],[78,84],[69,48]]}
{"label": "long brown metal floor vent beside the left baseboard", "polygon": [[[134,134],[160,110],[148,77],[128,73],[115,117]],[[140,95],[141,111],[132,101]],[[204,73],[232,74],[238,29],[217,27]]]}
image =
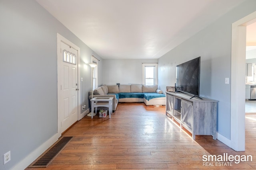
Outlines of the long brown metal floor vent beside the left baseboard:
{"label": "long brown metal floor vent beside the left baseboard", "polygon": [[57,156],[57,154],[68,144],[72,137],[63,137],[55,145],[53,145],[47,152],[42,154],[38,160],[35,160],[28,168],[45,168]]}

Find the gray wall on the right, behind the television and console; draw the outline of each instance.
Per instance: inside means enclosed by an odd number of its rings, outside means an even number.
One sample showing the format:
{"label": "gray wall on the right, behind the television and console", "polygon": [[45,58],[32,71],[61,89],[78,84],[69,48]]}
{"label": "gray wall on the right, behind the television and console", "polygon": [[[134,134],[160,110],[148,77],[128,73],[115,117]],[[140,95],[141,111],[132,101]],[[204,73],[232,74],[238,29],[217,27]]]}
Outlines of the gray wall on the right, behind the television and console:
{"label": "gray wall on the right, behind the television and console", "polygon": [[218,103],[218,133],[230,139],[230,84],[232,23],[256,11],[256,1],[247,0],[210,26],[158,59],[160,89],[174,86],[176,65],[201,56],[200,96]]}

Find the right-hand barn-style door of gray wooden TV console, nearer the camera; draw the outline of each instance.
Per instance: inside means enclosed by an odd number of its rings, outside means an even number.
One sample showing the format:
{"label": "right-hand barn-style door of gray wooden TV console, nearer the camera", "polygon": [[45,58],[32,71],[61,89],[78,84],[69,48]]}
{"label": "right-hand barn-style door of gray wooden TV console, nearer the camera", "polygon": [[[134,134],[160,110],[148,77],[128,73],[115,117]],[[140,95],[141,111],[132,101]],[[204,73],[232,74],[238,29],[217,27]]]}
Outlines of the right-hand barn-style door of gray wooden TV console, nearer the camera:
{"label": "right-hand barn-style door of gray wooden TV console, nearer the camera", "polygon": [[181,121],[190,130],[192,130],[193,115],[192,115],[192,102],[182,100],[181,101]]}

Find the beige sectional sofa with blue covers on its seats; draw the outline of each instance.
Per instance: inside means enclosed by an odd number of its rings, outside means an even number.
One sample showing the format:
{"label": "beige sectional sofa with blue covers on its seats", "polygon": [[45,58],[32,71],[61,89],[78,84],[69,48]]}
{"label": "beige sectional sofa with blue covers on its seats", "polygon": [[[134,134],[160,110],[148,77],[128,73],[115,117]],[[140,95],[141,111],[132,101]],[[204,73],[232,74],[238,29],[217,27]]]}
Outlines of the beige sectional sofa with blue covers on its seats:
{"label": "beige sectional sofa with blue covers on its seats", "polygon": [[[144,102],[147,106],[165,105],[165,95],[157,85],[104,85],[93,91],[93,97],[113,97],[113,111],[116,110],[118,102]],[[89,92],[89,99],[91,98]]]}

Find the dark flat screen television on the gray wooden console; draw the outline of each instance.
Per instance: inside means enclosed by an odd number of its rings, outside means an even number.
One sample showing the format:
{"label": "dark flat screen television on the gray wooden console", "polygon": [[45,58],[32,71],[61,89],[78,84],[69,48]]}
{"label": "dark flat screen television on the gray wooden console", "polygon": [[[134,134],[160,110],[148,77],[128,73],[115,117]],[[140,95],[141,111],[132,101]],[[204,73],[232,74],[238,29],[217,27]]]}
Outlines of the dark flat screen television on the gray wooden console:
{"label": "dark flat screen television on the gray wooden console", "polygon": [[199,97],[199,85],[200,57],[176,66],[176,91]]}

